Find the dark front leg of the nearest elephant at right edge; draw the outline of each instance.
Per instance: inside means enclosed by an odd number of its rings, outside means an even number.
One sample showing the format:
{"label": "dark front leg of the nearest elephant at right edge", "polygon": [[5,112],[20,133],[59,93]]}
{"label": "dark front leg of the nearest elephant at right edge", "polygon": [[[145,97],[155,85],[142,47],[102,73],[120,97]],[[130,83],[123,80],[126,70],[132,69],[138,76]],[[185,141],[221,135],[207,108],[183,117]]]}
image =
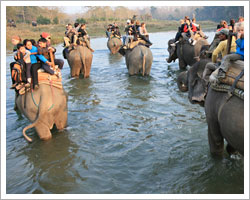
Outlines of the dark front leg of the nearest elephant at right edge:
{"label": "dark front leg of the nearest elephant at right edge", "polygon": [[208,142],[211,154],[219,156],[223,154],[224,138],[220,133],[218,122],[208,122]]}

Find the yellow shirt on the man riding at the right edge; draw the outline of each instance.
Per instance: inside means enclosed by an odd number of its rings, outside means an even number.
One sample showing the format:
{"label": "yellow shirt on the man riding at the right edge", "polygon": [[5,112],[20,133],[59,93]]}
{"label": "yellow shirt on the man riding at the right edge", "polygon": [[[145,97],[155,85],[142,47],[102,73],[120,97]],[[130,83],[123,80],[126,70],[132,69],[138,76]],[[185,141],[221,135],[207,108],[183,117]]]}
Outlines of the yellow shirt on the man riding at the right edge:
{"label": "yellow shirt on the man riding at the right edge", "polygon": [[[235,43],[235,37],[232,37],[232,43],[231,43],[231,52],[236,52],[236,43]],[[222,58],[227,55],[227,40],[221,41],[217,48],[213,51],[212,55],[212,62],[215,63],[216,59],[221,53]]]}

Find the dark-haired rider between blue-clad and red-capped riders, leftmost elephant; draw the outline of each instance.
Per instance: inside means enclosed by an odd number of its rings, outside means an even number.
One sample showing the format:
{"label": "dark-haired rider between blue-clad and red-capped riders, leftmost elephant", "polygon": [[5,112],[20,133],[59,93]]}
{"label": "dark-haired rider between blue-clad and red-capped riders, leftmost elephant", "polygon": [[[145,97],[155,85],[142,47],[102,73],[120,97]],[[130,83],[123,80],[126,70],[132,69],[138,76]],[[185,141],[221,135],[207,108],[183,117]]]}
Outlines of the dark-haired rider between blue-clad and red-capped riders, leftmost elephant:
{"label": "dark-haired rider between blue-clad and red-capped riders, leftmost elephant", "polygon": [[[44,69],[45,72],[51,74],[51,75],[56,75],[58,77],[61,76],[61,73],[59,71],[54,71],[50,68],[50,66],[53,65],[53,63],[51,62],[51,57],[50,57],[50,53],[49,51],[55,52],[55,48],[53,47],[47,47],[46,46],[47,40],[44,38],[40,38],[38,40],[38,55],[43,55],[42,57],[40,57],[41,61],[42,61],[42,68]],[[53,56],[55,56],[53,54]]]}

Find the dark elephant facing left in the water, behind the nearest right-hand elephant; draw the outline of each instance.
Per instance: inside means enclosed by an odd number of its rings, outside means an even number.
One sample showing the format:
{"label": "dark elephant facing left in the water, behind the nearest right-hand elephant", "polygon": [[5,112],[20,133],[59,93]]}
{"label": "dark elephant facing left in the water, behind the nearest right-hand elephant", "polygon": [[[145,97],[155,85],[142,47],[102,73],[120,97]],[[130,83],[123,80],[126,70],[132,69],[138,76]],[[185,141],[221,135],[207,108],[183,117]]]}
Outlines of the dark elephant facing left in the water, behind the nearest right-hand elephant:
{"label": "dark elephant facing left in the water, behind the nearest right-hand elephant", "polygon": [[176,46],[171,46],[173,43],[174,39],[168,41],[169,58],[167,62],[171,63],[178,58],[180,70],[185,70],[187,65],[191,66],[197,62],[202,46],[209,46],[209,43],[204,38],[198,40],[194,46],[184,39],[181,39]]}

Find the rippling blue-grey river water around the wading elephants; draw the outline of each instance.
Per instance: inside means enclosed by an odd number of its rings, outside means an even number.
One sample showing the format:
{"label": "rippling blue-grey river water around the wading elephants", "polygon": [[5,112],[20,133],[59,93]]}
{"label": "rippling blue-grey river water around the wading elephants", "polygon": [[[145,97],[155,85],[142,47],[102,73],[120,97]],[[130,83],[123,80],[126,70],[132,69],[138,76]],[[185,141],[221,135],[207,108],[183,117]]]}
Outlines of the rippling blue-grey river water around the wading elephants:
{"label": "rippling blue-grey river water around the wading elephants", "polygon": [[[206,33],[210,41],[213,34]],[[178,91],[178,63],[165,60],[174,36],[150,35],[149,77],[129,76],[107,39],[92,39],[89,79],[70,78],[65,60],[67,128],[53,130],[47,142],[35,136],[31,144],[22,137],[29,121],[13,111],[7,56],[7,193],[243,193],[243,159],[211,157],[204,108]],[[60,52],[61,45],[56,57]]]}

